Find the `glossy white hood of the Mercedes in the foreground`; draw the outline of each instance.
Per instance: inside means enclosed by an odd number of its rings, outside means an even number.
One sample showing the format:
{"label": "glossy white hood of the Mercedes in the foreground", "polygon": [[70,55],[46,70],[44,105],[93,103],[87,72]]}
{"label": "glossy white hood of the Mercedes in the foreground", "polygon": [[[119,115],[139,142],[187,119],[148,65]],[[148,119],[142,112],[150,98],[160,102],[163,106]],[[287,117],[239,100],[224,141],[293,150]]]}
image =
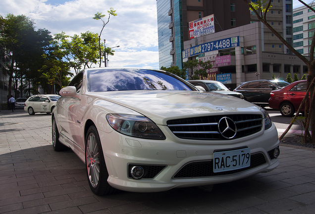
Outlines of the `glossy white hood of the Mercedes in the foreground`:
{"label": "glossy white hood of the Mercedes in the foreground", "polygon": [[261,113],[247,101],[210,92],[119,91],[93,92],[89,95],[137,111],[157,124],[166,124],[169,119],[205,116],[209,113]]}

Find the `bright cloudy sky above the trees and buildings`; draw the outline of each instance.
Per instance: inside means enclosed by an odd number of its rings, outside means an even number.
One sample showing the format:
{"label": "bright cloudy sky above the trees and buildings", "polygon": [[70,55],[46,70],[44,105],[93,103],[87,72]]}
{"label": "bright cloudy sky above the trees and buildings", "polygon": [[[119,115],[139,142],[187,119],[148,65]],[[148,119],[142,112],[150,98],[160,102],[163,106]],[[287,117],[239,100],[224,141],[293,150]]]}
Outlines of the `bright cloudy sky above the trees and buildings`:
{"label": "bright cloudy sky above the trees and buildings", "polygon": [[[299,6],[293,0],[293,8]],[[45,28],[52,36],[62,31],[73,36],[100,33],[103,22],[93,17],[102,12],[107,20],[110,7],[117,16],[110,16],[101,39],[106,40],[106,47],[120,47],[108,56],[108,67],[159,68],[157,0],[1,0],[0,15],[24,14],[34,20],[37,29]]]}

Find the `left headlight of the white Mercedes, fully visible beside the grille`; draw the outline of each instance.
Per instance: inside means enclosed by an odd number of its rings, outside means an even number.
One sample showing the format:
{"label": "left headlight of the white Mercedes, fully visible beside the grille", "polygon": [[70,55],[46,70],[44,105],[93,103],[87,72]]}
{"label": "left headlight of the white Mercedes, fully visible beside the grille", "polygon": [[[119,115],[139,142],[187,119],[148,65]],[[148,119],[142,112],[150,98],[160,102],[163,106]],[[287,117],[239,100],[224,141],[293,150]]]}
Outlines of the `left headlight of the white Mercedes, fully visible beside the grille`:
{"label": "left headlight of the white Mercedes, fully visible beside the grille", "polygon": [[166,139],[157,125],[147,117],[109,113],[106,119],[113,129],[122,134],[144,139]]}

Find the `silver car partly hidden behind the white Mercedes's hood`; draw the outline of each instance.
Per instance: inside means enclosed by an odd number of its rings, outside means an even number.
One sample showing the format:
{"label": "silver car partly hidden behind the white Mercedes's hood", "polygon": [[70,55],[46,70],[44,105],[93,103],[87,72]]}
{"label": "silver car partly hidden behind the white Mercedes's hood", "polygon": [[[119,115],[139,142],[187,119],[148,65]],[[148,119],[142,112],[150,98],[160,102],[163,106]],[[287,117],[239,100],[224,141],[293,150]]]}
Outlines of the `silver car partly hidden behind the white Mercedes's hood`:
{"label": "silver car partly hidden behind the white Mercedes's hood", "polygon": [[205,89],[206,92],[213,92],[223,95],[230,95],[237,98],[244,99],[243,95],[238,92],[230,91],[222,83],[214,80],[188,80],[189,83],[194,86],[200,86]]}

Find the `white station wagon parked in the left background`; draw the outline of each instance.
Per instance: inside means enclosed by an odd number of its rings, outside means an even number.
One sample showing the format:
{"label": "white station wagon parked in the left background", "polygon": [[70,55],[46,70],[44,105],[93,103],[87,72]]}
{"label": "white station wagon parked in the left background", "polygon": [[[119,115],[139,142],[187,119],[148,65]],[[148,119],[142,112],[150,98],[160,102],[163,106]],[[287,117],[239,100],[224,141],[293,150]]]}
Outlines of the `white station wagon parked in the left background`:
{"label": "white station wagon parked in the left background", "polygon": [[56,106],[59,95],[33,95],[24,103],[24,110],[30,115],[35,113],[51,113]]}

